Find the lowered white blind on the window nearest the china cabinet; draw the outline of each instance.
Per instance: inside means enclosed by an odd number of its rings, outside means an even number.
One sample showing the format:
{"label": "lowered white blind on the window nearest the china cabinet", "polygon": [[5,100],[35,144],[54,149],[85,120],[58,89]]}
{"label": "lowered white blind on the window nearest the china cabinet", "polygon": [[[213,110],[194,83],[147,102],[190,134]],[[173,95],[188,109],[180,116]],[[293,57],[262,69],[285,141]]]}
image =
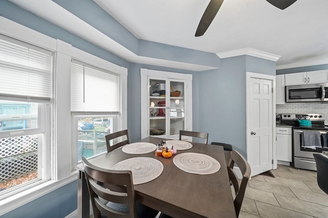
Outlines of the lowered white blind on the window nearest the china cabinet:
{"label": "lowered white blind on the window nearest the china cabinet", "polygon": [[71,65],[72,112],[118,112],[119,75],[76,60]]}

